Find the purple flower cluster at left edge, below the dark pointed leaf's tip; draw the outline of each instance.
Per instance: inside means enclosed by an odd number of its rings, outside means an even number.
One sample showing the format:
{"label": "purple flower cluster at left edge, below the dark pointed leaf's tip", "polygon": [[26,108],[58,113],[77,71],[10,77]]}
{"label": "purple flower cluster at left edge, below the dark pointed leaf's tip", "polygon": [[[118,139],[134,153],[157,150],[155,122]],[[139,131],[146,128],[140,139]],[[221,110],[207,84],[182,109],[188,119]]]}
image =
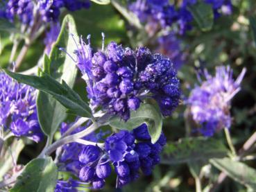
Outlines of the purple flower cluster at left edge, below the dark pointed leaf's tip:
{"label": "purple flower cluster at left edge, below the dark pointed leaf's tip", "polygon": [[36,91],[0,73],[0,125],[15,136],[38,142],[43,134],[37,120]]}

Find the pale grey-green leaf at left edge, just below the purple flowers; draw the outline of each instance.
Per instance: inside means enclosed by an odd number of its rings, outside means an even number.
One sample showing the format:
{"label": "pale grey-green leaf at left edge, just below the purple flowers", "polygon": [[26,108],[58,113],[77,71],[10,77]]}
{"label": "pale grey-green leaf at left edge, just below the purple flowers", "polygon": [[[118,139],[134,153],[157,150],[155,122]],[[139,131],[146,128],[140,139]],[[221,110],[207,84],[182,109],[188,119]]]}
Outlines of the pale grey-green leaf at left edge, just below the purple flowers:
{"label": "pale grey-green leaf at left edge, just below the purple flowers", "polygon": [[13,168],[13,162],[17,162],[19,153],[22,152],[24,146],[25,143],[22,139],[13,139],[10,146],[5,142],[3,148],[0,148],[0,180]]}

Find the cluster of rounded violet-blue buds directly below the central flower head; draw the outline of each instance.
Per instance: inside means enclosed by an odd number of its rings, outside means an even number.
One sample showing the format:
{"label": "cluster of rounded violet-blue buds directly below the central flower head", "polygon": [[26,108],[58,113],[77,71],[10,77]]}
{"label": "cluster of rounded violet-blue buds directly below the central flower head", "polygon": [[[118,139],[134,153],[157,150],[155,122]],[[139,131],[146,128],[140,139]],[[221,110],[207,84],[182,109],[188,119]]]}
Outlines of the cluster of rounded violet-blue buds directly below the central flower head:
{"label": "cluster of rounded violet-blue buds directly below the central flower head", "polygon": [[[91,135],[83,139],[95,141],[96,138],[99,139]],[[62,147],[59,158],[65,164],[66,171],[74,173],[80,181],[91,184],[93,189],[103,188],[105,179],[112,172],[112,166],[117,174],[117,188],[136,180],[139,169],[145,175],[150,175],[153,166],[160,162],[160,152],[166,143],[164,134],[156,143],[151,143],[146,124],[133,132],[121,130],[102,140],[105,143],[101,147],[96,143],[69,143]]]}

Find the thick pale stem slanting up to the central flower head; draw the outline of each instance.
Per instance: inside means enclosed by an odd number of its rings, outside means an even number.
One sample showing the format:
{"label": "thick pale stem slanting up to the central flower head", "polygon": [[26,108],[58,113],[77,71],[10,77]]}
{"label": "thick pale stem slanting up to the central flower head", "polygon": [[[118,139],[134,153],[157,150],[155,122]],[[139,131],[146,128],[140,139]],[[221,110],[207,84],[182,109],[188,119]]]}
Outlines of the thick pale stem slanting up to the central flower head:
{"label": "thick pale stem slanting up to the central flower head", "polygon": [[[60,146],[63,146],[67,143],[76,142],[77,139],[87,136],[88,134],[94,132],[97,128],[99,128],[98,123],[93,123],[92,125],[89,126],[89,128],[87,128],[81,132],[78,132],[76,134],[71,134],[67,137],[64,137],[64,138],[56,141],[55,143],[51,144],[51,146],[49,146],[48,148],[45,148],[44,150],[42,150],[41,154],[38,157],[44,157],[44,155],[49,155],[49,154],[51,154],[51,152],[55,151]],[[90,142],[90,141],[88,141],[88,142]],[[90,144],[92,144],[92,143],[90,143]]]}

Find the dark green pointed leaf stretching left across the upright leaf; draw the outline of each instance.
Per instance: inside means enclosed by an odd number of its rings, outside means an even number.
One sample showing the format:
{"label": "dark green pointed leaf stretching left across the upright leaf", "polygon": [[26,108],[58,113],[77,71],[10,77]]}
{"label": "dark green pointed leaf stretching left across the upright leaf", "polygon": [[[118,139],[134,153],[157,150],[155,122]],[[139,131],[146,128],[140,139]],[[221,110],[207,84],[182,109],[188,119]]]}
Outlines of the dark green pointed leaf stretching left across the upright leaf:
{"label": "dark green pointed leaf stretching left across the upright leaf", "polygon": [[87,103],[85,103],[76,91],[71,89],[64,80],[62,80],[62,84],[60,84],[60,82],[44,72],[42,72],[41,77],[37,77],[13,73],[6,69],[4,71],[8,76],[14,78],[18,82],[22,82],[31,87],[35,87],[35,89],[44,91],[47,94],[51,94],[53,98],[56,98],[56,100],[67,108],[67,112],[78,116],[92,117],[92,111]]}

